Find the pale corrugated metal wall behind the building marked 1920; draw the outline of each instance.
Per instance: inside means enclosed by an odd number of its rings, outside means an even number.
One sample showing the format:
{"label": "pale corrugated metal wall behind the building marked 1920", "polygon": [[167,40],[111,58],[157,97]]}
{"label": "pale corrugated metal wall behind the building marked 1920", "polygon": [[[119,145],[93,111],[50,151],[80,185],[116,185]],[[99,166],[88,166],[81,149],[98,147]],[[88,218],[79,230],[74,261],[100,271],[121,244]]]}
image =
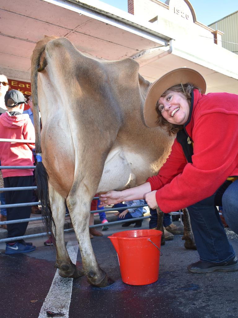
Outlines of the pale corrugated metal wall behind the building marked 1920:
{"label": "pale corrugated metal wall behind the building marked 1920", "polygon": [[238,54],[238,44],[232,44],[238,43],[238,11],[208,26],[214,30],[224,32],[224,35],[221,36],[222,41],[224,41],[222,47]]}

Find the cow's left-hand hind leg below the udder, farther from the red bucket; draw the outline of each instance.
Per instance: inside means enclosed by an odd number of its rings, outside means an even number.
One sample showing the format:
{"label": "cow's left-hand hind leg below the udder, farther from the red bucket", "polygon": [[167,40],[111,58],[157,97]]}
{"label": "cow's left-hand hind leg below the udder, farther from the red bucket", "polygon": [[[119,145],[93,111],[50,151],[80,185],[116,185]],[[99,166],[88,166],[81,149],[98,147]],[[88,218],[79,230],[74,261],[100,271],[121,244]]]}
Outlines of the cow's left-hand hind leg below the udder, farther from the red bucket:
{"label": "cow's left-hand hind leg below the udder, farther from the red bucket", "polygon": [[[52,217],[56,225],[56,264],[59,275],[62,277],[78,278],[83,275],[76,265],[72,263],[64,242],[65,199],[49,185],[50,205]],[[52,228],[53,233],[54,226]]]}

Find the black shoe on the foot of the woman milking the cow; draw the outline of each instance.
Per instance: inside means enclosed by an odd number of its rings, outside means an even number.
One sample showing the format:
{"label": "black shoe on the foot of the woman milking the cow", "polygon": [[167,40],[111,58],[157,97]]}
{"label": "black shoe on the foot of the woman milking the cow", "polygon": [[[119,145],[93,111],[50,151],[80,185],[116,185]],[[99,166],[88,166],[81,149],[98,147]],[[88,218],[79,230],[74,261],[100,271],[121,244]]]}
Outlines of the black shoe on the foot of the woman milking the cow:
{"label": "black shoe on the foot of the woman milking the cow", "polygon": [[188,270],[191,273],[212,273],[212,272],[235,272],[238,271],[237,257],[228,262],[222,263],[209,263],[198,261],[196,263],[188,265]]}

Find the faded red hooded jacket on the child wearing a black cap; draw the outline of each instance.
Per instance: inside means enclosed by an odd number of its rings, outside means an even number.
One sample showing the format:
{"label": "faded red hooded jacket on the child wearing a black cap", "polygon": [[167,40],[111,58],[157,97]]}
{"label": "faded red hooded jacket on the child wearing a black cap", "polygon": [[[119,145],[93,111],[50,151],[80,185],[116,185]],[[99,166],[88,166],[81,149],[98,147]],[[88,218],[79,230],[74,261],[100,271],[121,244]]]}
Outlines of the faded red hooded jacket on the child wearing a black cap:
{"label": "faded red hooded jacket on the child wearing a black cap", "polygon": [[[32,139],[35,141],[35,129],[28,114],[0,116],[0,138]],[[21,142],[0,142],[0,161],[2,166],[33,166],[32,149],[35,144]],[[33,169],[2,169],[3,178],[12,176],[32,176]]]}

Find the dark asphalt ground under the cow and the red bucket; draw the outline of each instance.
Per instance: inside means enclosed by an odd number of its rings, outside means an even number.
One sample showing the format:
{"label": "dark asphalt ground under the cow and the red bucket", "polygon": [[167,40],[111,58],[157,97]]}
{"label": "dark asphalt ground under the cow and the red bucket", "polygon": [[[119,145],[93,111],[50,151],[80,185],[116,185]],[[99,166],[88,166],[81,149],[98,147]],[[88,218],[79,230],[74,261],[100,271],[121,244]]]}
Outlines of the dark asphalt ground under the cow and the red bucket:
{"label": "dark asphalt ground under the cow and the red bucket", "polygon": [[[148,228],[149,220],[146,219],[142,229]],[[99,265],[115,281],[106,288],[89,285],[84,276],[74,280],[60,278],[52,285],[56,278],[55,251],[53,247],[43,245],[46,237],[32,239],[36,251],[26,254],[5,255],[5,244],[0,244],[0,317],[49,317],[47,306],[53,306],[57,301],[62,303],[62,311],[53,312],[53,317],[238,317],[238,272],[189,273],[187,265],[197,261],[198,254],[184,248],[182,235],[176,235],[174,240],[161,247],[163,255],[160,257],[159,279],[155,283],[144,286],[123,283],[116,251],[107,236],[129,229],[132,230],[133,225],[128,228],[112,225],[103,231],[103,237],[91,240]],[[238,255],[238,235],[229,230],[227,234]],[[67,233],[65,242],[76,245],[75,234]],[[82,266],[80,253],[76,264]],[[61,289],[70,282],[72,292],[68,287],[67,290]],[[48,294],[52,289],[53,294]],[[47,299],[53,305],[49,305]],[[66,313],[64,303],[68,303]]]}

